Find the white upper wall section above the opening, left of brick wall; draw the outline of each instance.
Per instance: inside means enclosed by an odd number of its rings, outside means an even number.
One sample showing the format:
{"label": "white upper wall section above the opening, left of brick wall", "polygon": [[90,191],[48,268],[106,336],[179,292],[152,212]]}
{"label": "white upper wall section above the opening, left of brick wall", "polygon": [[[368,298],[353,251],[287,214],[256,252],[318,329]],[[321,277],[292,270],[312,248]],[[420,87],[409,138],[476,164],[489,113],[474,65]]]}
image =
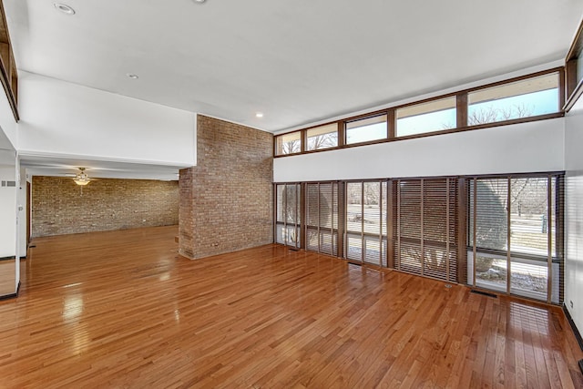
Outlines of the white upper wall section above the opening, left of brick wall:
{"label": "white upper wall section above the opening, left of brick wall", "polygon": [[193,112],[26,72],[18,85],[22,157],[195,164]]}

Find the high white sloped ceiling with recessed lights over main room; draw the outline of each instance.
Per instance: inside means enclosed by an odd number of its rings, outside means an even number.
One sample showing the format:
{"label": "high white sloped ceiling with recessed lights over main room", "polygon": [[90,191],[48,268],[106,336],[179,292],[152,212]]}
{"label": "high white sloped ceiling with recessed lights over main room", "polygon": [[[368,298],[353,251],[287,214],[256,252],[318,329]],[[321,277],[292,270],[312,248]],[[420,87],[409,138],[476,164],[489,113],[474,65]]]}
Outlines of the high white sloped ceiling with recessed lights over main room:
{"label": "high white sloped ceiling with recessed lights over main room", "polygon": [[4,1],[22,70],[271,132],[564,58],[583,13],[580,0],[62,0],[76,15]]}

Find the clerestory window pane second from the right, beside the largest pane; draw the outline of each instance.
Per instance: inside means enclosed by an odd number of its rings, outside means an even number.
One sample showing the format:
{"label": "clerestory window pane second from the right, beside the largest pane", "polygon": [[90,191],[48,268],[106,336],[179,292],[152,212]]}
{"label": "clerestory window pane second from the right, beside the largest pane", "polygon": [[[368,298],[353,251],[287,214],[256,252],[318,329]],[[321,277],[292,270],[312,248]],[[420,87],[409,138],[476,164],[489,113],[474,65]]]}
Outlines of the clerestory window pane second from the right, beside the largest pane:
{"label": "clerestory window pane second from the right, beside the largest pane", "polygon": [[455,128],[455,96],[398,108],[395,137]]}

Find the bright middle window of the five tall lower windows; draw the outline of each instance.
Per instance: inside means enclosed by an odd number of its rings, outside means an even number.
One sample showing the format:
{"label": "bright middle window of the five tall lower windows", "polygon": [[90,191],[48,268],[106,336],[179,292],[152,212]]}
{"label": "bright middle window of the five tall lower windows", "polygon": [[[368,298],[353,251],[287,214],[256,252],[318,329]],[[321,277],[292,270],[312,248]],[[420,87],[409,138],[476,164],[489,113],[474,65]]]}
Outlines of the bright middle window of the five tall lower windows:
{"label": "bright middle window of the five tall lower windows", "polygon": [[387,266],[387,183],[346,183],[345,258]]}

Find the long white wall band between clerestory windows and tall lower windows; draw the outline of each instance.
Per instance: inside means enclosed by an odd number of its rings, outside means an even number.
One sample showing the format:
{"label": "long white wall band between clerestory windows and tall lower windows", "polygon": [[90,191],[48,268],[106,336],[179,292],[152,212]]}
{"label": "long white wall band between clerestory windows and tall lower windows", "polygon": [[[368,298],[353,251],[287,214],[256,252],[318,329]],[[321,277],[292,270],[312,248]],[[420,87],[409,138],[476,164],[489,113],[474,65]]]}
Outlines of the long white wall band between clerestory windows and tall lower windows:
{"label": "long white wall band between clerestory windows and tall lower windows", "polygon": [[275,182],[560,171],[565,119],[322,151],[273,161]]}

